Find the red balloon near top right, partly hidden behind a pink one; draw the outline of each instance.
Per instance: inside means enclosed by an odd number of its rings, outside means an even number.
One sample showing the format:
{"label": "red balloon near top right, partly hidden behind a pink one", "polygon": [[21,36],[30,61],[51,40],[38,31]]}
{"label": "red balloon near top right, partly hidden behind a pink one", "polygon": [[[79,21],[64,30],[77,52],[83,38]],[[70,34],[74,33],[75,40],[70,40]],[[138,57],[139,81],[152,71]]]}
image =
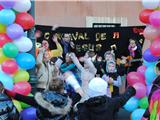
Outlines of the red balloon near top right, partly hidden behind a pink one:
{"label": "red balloon near top right, partly hidden behind a pink one", "polygon": [[144,9],[139,14],[139,19],[145,24],[149,24],[149,16],[154,10]]}

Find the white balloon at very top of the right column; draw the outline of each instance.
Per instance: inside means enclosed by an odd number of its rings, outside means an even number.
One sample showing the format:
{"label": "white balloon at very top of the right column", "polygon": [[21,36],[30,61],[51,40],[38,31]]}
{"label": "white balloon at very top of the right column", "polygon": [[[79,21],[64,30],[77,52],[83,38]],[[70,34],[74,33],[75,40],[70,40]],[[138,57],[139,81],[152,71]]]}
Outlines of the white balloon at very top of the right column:
{"label": "white balloon at very top of the right column", "polygon": [[146,9],[155,9],[159,6],[160,0],[142,0],[142,4]]}

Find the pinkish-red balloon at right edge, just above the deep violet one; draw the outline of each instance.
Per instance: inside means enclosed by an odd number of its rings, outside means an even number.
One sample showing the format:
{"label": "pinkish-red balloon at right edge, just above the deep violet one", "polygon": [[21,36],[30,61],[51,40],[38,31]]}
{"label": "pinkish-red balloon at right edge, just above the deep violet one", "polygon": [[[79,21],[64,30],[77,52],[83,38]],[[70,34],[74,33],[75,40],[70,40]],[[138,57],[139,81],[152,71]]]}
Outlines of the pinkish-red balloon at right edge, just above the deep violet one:
{"label": "pinkish-red balloon at right edge, just above the deep violet one", "polygon": [[151,53],[154,56],[160,56],[160,40],[155,40],[150,46]]}

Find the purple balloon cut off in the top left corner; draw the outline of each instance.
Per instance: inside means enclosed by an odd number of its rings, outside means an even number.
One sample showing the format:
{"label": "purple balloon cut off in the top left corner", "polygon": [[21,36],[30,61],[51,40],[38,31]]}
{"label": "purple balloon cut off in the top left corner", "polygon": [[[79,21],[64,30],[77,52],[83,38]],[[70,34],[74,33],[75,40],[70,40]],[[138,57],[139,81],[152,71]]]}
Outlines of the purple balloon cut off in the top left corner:
{"label": "purple balloon cut off in the top left corner", "polygon": [[0,0],[0,5],[2,5],[6,9],[10,9],[13,8],[15,2],[15,0]]}

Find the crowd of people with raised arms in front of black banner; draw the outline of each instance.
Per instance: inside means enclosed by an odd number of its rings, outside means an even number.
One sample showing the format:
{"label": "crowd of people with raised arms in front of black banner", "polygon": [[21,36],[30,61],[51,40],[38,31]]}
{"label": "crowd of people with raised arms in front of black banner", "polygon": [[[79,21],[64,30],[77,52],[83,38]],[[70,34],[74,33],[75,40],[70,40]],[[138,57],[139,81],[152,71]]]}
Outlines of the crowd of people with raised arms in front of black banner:
{"label": "crowd of people with raised arms in front of black banner", "polygon": [[[57,46],[55,50],[49,49],[46,40],[42,41],[37,55],[38,83],[34,96],[14,93],[0,84],[0,97],[9,101],[4,112],[13,117],[7,119],[17,120],[20,117],[17,110],[13,115],[13,104],[6,95],[35,107],[37,119],[40,120],[114,120],[119,108],[136,94],[135,88],[122,80],[127,67],[136,69],[136,63],[132,63],[131,58],[122,56],[117,62],[113,50],[105,52],[104,60],[93,50],[77,57],[71,50],[74,43],[70,43],[68,35],[64,37],[60,43],[56,35],[53,36],[52,40]],[[133,39],[128,50],[133,59],[137,59],[137,52],[141,52]],[[122,84],[126,89],[120,95]]]}

